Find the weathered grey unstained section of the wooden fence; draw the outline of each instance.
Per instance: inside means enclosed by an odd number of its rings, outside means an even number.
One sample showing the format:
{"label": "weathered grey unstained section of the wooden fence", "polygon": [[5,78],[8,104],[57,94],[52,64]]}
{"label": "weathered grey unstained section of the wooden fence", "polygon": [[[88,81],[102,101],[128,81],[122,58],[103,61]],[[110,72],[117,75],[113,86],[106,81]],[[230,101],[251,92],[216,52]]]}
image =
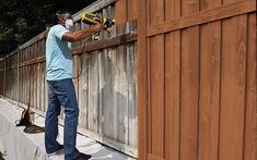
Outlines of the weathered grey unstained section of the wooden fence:
{"label": "weathered grey unstained section of the wooden fence", "polygon": [[[137,157],[136,22],[115,15],[115,0],[97,1],[73,15],[74,29],[82,12],[117,17],[112,33],[100,41],[87,38],[72,44],[73,83],[80,106],[79,132]],[[44,114],[47,109],[45,41],[47,30],[0,60],[1,95]],[[63,118],[63,115],[62,115]]]}

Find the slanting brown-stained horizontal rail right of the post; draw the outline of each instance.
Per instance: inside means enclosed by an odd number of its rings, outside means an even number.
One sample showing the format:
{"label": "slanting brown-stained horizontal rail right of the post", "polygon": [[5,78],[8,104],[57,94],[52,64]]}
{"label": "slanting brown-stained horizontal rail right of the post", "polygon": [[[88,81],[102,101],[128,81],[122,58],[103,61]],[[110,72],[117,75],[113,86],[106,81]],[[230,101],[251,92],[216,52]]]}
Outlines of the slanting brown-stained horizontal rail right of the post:
{"label": "slanting brown-stained horizontal rail right of the post", "polygon": [[[194,5],[194,4],[192,4]],[[197,7],[197,5],[196,5]],[[153,24],[148,27],[147,35],[153,36],[177,29],[183,29],[194,25],[210,23],[213,21],[246,14],[256,11],[255,0],[244,0],[235,3],[229,3],[214,9],[197,12],[187,16],[182,16],[177,20]]]}

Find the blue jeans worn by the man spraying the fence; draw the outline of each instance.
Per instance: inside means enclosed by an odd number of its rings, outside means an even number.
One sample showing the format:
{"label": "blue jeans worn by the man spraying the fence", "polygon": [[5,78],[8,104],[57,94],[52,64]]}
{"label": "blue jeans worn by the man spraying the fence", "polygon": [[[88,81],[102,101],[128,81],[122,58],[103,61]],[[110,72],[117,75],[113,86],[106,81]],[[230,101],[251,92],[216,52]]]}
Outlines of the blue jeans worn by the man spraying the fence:
{"label": "blue jeans worn by the man spraying the fence", "polygon": [[61,106],[65,109],[65,159],[70,160],[79,156],[75,148],[79,106],[77,102],[74,85],[71,78],[48,81],[48,109],[45,120],[45,147],[46,152],[55,152],[59,143],[58,115]]}

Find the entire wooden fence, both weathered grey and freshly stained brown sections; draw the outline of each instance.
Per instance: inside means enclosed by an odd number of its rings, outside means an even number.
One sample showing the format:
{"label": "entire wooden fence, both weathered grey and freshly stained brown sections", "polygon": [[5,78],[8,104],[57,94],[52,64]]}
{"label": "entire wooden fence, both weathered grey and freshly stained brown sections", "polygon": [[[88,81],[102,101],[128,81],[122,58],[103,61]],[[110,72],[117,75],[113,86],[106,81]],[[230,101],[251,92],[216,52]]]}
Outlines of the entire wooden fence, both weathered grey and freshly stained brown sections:
{"label": "entire wooden fence, both weathered grey and freshly stained brown sections", "polygon": [[[256,159],[255,0],[103,0],[86,10],[126,24],[85,53],[84,41],[72,46],[87,135],[135,157],[138,146],[140,160]],[[33,93],[42,111],[45,34],[0,61],[1,93],[23,103]]]}

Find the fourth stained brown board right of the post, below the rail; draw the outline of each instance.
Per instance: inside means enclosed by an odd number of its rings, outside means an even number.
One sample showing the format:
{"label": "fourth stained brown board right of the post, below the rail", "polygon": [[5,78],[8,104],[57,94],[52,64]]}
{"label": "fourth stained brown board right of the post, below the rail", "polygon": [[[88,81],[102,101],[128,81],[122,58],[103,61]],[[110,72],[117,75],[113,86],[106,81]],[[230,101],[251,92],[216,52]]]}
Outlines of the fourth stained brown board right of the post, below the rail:
{"label": "fourth stained brown board right of the post, below the rail", "polygon": [[220,112],[221,22],[201,26],[199,160],[217,160]]}

